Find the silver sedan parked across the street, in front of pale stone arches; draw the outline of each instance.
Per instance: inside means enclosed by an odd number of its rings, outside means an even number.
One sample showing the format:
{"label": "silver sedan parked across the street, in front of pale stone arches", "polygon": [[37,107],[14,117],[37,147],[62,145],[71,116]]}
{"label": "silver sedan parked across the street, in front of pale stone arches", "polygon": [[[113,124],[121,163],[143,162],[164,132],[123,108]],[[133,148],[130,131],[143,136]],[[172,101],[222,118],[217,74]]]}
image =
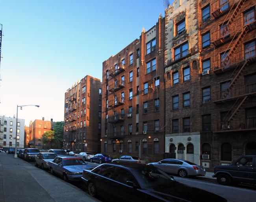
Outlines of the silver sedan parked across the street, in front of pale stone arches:
{"label": "silver sedan parked across the street, in front of pale stone arches", "polygon": [[148,165],[154,165],[166,173],[178,174],[180,177],[205,176],[206,174],[203,166],[186,160],[169,158],[157,163],[148,163]]}

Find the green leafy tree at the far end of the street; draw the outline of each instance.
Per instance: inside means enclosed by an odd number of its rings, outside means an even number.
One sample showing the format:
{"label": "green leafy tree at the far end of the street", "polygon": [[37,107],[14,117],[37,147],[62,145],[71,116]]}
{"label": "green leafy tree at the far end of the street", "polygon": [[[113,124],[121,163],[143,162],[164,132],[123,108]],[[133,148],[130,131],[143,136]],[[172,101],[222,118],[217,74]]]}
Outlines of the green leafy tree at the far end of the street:
{"label": "green leafy tree at the far end of the street", "polygon": [[51,131],[46,131],[43,134],[43,143],[46,144],[46,147],[52,148],[62,148],[63,147],[63,131],[64,122],[56,122],[54,129]]}

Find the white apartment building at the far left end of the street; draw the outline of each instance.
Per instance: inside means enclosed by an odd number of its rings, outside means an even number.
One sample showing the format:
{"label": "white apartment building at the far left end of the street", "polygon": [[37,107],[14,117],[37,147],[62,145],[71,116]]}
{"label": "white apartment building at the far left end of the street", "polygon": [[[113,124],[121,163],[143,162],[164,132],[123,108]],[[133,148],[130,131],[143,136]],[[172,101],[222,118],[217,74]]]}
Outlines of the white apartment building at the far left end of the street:
{"label": "white apartment building at the far left end of the street", "polygon": [[[17,148],[24,148],[25,119],[18,119],[17,124]],[[16,118],[0,116],[0,147],[15,148]]]}

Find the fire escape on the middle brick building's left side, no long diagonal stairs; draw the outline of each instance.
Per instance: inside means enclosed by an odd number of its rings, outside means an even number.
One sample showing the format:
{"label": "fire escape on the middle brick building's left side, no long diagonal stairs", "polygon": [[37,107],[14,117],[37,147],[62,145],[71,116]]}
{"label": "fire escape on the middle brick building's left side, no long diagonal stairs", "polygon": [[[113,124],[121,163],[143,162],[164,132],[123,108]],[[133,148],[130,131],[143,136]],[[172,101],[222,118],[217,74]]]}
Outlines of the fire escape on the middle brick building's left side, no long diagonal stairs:
{"label": "fire escape on the middle brick building's left side, no long diagonal stairs", "polygon": [[122,136],[121,132],[117,132],[116,124],[121,121],[124,121],[123,115],[119,116],[117,114],[117,107],[124,104],[124,95],[122,94],[120,96],[117,95],[117,91],[125,87],[124,80],[119,81],[119,79],[117,78],[117,75],[119,75],[123,71],[125,71],[124,64],[122,64],[121,67],[116,65],[113,72],[109,74],[109,76],[111,76],[113,78],[112,80],[114,81],[113,88],[109,89],[109,92],[112,92],[113,98],[114,98],[113,104],[109,105],[109,108],[111,108],[113,111],[113,116],[109,117],[109,121],[108,121],[109,123],[111,123],[113,127],[113,133],[110,132],[110,135],[108,136],[109,138],[117,138]]}

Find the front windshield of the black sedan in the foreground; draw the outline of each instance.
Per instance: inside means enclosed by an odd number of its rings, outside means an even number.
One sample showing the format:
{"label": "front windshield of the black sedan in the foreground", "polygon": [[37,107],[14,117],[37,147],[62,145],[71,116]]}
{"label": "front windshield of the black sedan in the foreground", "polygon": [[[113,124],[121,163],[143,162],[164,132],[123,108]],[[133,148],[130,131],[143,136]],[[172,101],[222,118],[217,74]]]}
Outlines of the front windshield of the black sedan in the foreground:
{"label": "front windshield of the black sedan in the foreground", "polygon": [[153,187],[156,185],[167,184],[175,181],[169,175],[158,168],[143,168],[132,171],[135,178],[144,187]]}

